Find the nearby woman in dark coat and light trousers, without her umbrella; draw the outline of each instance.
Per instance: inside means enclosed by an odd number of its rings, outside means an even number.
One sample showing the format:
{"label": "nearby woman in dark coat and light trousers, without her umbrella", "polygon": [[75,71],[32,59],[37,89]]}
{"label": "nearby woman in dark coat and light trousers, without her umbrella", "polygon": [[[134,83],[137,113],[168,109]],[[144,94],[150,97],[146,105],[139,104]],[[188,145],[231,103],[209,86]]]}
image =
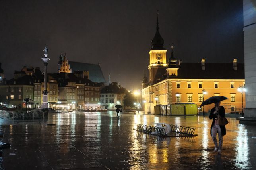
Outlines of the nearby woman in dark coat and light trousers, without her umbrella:
{"label": "nearby woman in dark coat and light trousers, without her umbrella", "polygon": [[[226,127],[225,125],[219,125],[218,122],[218,115],[221,117],[225,117],[225,109],[223,106],[220,106],[220,101],[214,103],[215,107],[213,107],[211,109],[211,113],[210,113],[210,119],[212,120],[212,124],[211,124],[211,137],[213,139],[215,148],[214,148],[214,152],[217,152],[220,154],[221,153],[221,148],[222,148],[222,137],[226,134]],[[219,145],[217,142],[217,133],[218,133],[218,137],[219,137]]]}

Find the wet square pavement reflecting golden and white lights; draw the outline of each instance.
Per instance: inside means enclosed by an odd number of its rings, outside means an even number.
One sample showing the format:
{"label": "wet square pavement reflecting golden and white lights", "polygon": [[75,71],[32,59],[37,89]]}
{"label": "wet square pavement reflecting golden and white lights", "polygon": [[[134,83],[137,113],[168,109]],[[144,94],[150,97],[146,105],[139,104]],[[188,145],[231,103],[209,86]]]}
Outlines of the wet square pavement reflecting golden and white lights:
{"label": "wet square pavement reflecting golden and white lights", "polygon": [[[227,118],[221,155],[213,153],[211,120],[201,116],[124,113],[50,113],[48,120],[1,119],[0,168],[5,170],[179,170],[256,169],[256,126]],[[196,137],[157,138],[133,130],[134,123],[195,127]],[[17,126],[16,126],[17,124]]]}

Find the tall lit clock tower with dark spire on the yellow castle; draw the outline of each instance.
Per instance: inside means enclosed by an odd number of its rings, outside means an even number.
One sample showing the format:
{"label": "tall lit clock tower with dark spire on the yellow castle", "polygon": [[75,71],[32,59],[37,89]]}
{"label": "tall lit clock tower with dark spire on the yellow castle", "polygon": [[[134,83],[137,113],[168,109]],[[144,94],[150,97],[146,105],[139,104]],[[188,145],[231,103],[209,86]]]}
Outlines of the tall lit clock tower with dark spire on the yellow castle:
{"label": "tall lit clock tower with dark spire on the yellow castle", "polygon": [[166,63],[166,52],[167,50],[163,47],[164,40],[159,33],[158,27],[158,13],[157,13],[157,31],[153,40],[151,40],[152,48],[149,51],[149,84],[155,84],[161,81],[162,75],[165,74],[167,63]]}

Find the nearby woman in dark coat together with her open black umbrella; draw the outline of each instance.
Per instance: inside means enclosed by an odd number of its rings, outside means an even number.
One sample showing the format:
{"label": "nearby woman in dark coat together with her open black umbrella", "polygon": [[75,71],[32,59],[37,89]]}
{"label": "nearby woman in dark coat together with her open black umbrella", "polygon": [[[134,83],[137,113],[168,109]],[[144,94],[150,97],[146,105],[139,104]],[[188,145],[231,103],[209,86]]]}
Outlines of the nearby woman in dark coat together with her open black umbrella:
{"label": "nearby woman in dark coat together with her open black umbrella", "polygon": [[[222,100],[226,100],[226,99],[228,98],[225,96],[213,96],[213,97],[210,97],[209,99],[206,99],[201,104],[201,107],[203,105],[208,105],[211,103],[215,104],[215,107],[211,109],[210,116],[209,116],[210,119],[213,119],[211,123],[210,133],[215,145],[213,152],[218,152],[219,154],[221,153],[221,149],[222,149],[223,136],[226,135],[226,127],[225,125],[223,125],[223,122],[220,120],[220,118],[225,117],[225,109],[223,106],[220,106],[220,103]],[[219,145],[216,138],[217,133],[219,137]]]}

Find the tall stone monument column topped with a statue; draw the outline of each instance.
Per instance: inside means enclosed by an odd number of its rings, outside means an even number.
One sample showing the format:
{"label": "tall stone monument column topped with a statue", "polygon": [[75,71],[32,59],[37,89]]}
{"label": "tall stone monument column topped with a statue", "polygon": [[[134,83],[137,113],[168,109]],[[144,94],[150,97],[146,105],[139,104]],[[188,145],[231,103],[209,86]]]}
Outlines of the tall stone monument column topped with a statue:
{"label": "tall stone monument column topped with a statue", "polygon": [[45,47],[45,49],[43,50],[45,52],[45,57],[42,58],[43,62],[44,62],[44,91],[43,91],[43,102],[41,105],[41,108],[48,108],[48,92],[47,92],[47,65],[48,65],[48,61],[50,60],[47,57],[47,53],[48,53],[48,48]]}

